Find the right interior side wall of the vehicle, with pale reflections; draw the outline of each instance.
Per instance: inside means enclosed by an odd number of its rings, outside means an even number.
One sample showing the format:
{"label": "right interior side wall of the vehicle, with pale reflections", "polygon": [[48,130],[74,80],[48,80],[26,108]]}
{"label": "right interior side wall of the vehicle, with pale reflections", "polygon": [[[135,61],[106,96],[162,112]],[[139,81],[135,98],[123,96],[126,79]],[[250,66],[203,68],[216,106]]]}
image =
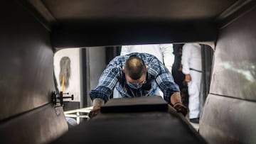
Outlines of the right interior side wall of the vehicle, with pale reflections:
{"label": "right interior side wall of the vehicle, with pale reflections", "polygon": [[209,143],[256,142],[255,6],[220,29],[199,132]]}

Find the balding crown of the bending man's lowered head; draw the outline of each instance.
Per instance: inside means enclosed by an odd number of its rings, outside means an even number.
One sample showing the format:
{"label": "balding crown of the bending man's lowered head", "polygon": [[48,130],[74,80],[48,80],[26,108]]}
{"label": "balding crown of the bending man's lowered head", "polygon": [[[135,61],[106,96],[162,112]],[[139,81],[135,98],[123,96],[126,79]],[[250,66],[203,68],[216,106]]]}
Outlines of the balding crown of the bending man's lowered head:
{"label": "balding crown of the bending man's lowered head", "polygon": [[144,72],[146,72],[146,65],[141,58],[129,57],[125,62],[124,73],[128,74],[132,79],[139,79]]}

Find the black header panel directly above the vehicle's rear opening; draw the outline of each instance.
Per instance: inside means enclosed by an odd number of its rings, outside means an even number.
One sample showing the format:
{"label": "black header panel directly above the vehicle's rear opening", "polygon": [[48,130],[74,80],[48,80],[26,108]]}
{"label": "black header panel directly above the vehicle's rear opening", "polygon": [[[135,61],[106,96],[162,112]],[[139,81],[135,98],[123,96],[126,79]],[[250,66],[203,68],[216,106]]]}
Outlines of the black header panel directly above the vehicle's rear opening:
{"label": "black header panel directly above the vehicle's rear opening", "polygon": [[183,43],[184,40],[186,42],[212,41],[216,39],[217,35],[217,26],[212,21],[193,21],[193,23],[188,21],[175,24],[172,21],[137,19],[134,21],[110,20],[81,23],[78,21],[53,27],[51,42],[56,48],[136,45]]}

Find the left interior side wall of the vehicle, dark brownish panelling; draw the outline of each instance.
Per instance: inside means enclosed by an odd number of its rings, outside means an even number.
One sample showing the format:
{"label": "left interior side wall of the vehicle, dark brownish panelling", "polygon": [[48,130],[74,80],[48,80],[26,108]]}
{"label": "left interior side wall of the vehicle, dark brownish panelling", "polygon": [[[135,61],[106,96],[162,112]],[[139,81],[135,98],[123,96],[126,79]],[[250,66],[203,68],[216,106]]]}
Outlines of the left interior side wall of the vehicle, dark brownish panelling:
{"label": "left interior side wall of the vehicle, dark brownish panelling", "polygon": [[0,5],[1,143],[46,143],[68,130],[54,108],[50,32],[14,1]]}

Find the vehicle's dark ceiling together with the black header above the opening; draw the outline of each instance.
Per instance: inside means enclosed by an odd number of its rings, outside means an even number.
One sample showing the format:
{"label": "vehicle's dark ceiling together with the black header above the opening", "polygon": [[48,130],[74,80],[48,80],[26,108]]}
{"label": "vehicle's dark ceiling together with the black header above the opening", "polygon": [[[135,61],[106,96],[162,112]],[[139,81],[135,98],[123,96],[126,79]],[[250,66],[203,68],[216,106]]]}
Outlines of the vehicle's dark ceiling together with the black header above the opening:
{"label": "vehicle's dark ceiling together with the black header above the opening", "polygon": [[46,21],[55,47],[214,41],[223,21],[250,3],[250,0],[27,1]]}

